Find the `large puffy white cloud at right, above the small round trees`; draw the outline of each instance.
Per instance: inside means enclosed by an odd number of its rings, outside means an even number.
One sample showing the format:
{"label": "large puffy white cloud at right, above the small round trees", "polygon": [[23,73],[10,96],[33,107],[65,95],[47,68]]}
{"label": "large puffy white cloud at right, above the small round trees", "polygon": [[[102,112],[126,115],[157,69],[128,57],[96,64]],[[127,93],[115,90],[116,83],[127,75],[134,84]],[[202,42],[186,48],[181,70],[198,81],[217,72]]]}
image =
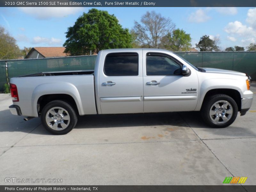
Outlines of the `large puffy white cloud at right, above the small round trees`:
{"label": "large puffy white cloud at right, above the small round trees", "polygon": [[247,27],[246,25],[243,25],[240,21],[229,22],[224,30],[229,34],[237,34],[240,36],[256,36],[255,31],[253,31],[252,27]]}

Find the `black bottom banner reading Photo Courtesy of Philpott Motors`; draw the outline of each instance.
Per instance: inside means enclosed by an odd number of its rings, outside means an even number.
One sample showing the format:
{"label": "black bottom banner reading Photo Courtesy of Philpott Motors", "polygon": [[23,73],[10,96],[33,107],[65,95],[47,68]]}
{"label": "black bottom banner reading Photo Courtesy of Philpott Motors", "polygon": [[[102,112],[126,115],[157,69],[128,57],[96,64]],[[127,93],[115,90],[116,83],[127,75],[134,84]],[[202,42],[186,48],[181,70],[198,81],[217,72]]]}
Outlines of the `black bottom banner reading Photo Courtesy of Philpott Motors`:
{"label": "black bottom banner reading Photo Courtesy of Philpott Motors", "polygon": [[94,191],[94,192],[191,192],[191,191],[204,191],[204,192],[241,192],[241,191],[256,191],[256,186],[241,186],[241,185],[222,185],[222,186],[209,186],[209,185],[201,185],[201,186],[179,186],[179,185],[151,185],[151,186],[143,186],[143,185],[123,185],[123,186],[115,186],[115,185],[63,185],[63,186],[36,186],[36,185],[20,185],[20,186],[0,186],[1,192],[57,192],[57,191],[65,191],[65,192],[73,192],[73,191]]}

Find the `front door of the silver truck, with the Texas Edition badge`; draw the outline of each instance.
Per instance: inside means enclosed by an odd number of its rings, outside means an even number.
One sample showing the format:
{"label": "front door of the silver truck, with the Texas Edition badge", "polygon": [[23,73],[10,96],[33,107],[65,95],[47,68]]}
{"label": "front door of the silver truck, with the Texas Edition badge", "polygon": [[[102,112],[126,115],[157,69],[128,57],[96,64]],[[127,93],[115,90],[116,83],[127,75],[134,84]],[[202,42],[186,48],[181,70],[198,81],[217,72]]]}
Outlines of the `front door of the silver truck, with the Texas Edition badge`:
{"label": "front door of the silver truck, with the Texas Edition badge", "polygon": [[193,111],[198,100],[195,69],[181,75],[183,63],[171,52],[143,50],[144,112]]}

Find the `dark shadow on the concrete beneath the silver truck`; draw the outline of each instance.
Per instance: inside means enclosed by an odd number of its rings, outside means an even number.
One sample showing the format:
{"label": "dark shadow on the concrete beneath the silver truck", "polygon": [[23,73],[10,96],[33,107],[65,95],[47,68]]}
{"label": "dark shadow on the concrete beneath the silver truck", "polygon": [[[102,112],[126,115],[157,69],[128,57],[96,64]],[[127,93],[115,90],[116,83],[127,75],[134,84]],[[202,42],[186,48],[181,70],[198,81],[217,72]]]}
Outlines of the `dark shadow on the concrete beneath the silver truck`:
{"label": "dark shadow on the concrete beneath the silver truck", "polygon": [[[0,132],[25,132],[40,135],[51,135],[41,124],[40,118],[24,121],[23,116],[14,116],[10,110],[0,111]],[[79,116],[75,129],[110,128],[110,127],[134,127],[159,125],[170,127],[201,128],[205,132],[223,136],[249,136],[256,134],[248,129],[248,126],[229,126],[222,129],[214,129],[206,125],[199,112],[168,112],[147,114],[115,114],[115,115],[86,115]],[[218,130],[218,131],[216,131]]]}

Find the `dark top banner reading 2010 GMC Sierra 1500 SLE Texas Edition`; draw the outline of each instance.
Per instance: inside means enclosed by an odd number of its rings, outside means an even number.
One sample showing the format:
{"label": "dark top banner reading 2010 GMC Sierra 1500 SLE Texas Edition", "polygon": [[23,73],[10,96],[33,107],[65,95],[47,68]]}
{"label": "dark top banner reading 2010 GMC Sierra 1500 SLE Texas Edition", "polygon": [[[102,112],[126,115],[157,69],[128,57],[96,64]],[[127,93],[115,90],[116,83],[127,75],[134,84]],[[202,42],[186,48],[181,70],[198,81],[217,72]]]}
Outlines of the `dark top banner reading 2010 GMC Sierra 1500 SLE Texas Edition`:
{"label": "dark top banner reading 2010 GMC Sierra 1500 SLE Texas Edition", "polygon": [[0,7],[255,7],[255,0],[6,0]]}

